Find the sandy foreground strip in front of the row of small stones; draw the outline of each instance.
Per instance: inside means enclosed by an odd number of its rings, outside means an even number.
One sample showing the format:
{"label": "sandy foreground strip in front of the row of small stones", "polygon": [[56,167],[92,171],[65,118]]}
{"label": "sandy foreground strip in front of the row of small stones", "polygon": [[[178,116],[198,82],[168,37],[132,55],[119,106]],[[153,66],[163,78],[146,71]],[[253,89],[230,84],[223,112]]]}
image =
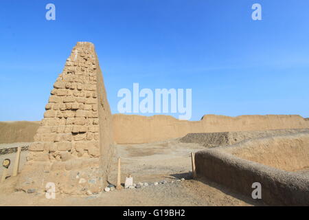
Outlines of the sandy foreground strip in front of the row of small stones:
{"label": "sandy foreground strip in front of the row of small stones", "polygon": [[140,189],[114,190],[89,197],[12,192],[0,194],[0,206],[260,206],[246,197],[201,181],[181,181]]}

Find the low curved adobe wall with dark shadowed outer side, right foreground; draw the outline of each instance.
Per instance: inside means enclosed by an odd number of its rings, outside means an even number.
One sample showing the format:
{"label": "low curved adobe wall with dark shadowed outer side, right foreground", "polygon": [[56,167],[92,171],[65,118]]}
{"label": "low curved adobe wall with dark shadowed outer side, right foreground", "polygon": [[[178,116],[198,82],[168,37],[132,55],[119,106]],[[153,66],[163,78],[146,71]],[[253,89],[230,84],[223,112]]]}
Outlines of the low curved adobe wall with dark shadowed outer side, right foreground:
{"label": "low curved adobe wall with dark shadowed outer side, right foreground", "polygon": [[[309,206],[309,132],[265,137],[195,154],[198,178],[251,197],[258,182],[262,201],[273,206]],[[288,172],[286,170],[298,170]],[[307,174],[306,174],[307,173]]]}

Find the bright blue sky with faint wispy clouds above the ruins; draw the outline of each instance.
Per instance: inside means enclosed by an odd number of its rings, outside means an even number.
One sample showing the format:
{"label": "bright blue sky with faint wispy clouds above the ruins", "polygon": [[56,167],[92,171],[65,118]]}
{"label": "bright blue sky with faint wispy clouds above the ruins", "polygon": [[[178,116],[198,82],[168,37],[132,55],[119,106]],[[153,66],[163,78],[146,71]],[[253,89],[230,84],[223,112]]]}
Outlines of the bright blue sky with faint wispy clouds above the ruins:
{"label": "bright blue sky with faint wispy clouds above the ruins", "polygon": [[[56,5],[56,21],[45,5]],[[251,5],[262,5],[262,21]],[[95,44],[117,91],[192,88],[204,114],[309,117],[308,0],[87,0],[0,3],[0,120],[41,120],[77,41]]]}

